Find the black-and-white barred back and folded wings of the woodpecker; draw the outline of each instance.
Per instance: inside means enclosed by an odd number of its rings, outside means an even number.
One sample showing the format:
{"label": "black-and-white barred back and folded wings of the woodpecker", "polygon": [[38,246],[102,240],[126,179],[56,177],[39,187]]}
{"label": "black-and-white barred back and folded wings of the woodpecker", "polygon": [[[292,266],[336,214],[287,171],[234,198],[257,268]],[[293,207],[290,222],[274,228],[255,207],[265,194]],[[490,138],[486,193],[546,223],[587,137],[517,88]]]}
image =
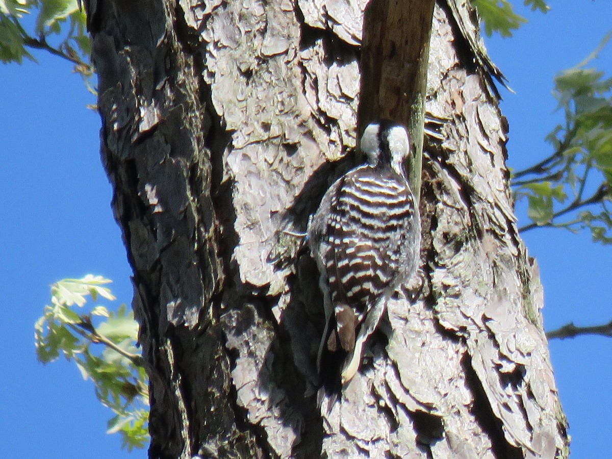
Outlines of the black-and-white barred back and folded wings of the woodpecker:
{"label": "black-and-white barred back and folded wings of the woodpecker", "polygon": [[328,249],[321,255],[340,343],[350,351],[343,328],[353,326],[354,341],[354,327],[368,308],[401,282],[397,274],[409,250],[414,199],[406,180],[390,168],[361,166],[341,179],[330,209],[324,234]]}

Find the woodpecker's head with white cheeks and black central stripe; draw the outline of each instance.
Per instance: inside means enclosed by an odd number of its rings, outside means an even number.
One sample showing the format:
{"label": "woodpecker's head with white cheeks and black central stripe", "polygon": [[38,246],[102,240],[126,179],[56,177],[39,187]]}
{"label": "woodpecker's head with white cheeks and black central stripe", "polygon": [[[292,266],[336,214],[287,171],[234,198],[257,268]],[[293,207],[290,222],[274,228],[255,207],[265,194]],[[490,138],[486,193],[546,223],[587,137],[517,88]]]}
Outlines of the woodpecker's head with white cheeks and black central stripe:
{"label": "woodpecker's head with white cheeks and black central stripe", "polygon": [[403,162],[410,151],[408,132],[403,125],[387,119],[373,121],[361,136],[361,151],[370,165],[388,165],[403,176]]}

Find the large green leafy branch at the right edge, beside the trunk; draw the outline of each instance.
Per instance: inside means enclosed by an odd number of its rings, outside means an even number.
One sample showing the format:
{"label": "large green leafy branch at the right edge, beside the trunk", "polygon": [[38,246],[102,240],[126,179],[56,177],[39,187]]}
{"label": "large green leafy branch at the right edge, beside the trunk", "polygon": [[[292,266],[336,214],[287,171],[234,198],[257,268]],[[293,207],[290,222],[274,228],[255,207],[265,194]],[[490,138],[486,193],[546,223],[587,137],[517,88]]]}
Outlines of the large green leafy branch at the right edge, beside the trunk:
{"label": "large green leafy branch at the right edge, beside the trunk", "polygon": [[553,153],[534,166],[513,173],[517,200],[528,199],[528,216],[537,226],[591,231],[595,242],[612,242],[612,78],[589,68],[611,39],[554,80],[554,97],[564,121],[546,140]]}

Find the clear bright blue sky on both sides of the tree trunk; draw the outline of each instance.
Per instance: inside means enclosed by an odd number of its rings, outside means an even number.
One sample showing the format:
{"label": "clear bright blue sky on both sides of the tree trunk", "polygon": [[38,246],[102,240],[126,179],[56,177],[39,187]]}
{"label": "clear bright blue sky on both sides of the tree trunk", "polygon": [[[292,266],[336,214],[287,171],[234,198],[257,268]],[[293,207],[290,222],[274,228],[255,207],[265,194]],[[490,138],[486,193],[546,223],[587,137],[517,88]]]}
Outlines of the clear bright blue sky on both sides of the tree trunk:
{"label": "clear bright blue sky on both sides of the tree trunk", "polygon": [[[552,2],[512,39],[487,40],[491,56],[516,94],[502,91],[510,122],[509,165],[545,157],[543,137],[553,113],[553,77],[582,61],[612,28],[612,2]],[[521,10],[521,9],[519,9]],[[121,302],[132,297],[130,268],[110,209],[111,188],[99,156],[95,102],[72,66],[44,53],[39,64],[0,65],[0,444],[6,457],[119,458],[120,438],[106,435],[110,412],[90,381],[60,359],[39,364],[34,322],[49,302],[49,286],[89,272],[114,280]],[[612,47],[595,65],[612,75]],[[519,216],[526,222],[524,211]],[[612,319],[612,247],[589,234],[534,230],[524,235],[545,288],[545,324],[597,324]],[[612,436],[612,338],[552,341],[551,355],[573,438],[572,457],[609,457]]]}

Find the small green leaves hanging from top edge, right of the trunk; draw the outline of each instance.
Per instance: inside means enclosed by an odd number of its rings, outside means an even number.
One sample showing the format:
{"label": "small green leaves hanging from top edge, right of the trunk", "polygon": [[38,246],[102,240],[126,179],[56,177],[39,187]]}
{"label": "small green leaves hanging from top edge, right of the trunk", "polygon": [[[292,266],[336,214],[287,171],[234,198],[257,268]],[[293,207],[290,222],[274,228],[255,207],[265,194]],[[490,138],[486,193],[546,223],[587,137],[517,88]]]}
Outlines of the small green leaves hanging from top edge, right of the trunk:
{"label": "small green leaves hanging from top edge, right of the trunk", "polygon": [[[524,0],[524,5],[532,11],[547,12],[550,7],[544,0]],[[502,37],[512,37],[512,31],[520,28],[527,19],[514,12],[508,0],[472,0],[485,26],[485,34],[490,37],[498,32]]]}

